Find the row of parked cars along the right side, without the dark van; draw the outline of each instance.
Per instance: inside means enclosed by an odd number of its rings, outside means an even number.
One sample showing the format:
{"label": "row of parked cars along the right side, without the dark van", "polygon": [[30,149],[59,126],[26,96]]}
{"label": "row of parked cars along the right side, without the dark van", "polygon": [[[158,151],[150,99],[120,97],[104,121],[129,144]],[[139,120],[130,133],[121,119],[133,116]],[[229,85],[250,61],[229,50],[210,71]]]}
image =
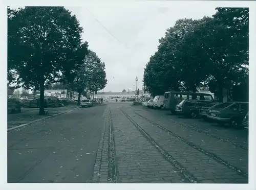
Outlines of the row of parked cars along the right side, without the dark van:
{"label": "row of parked cars along the right side, without the dark van", "polygon": [[[155,100],[155,99],[154,99]],[[164,109],[163,104],[156,101],[143,102],[142,106],[148,108]],[[161,101],[158,101],[161,104]],[[248,129],[248,102],[217,103],[208,100],[181,100],[176,105],[172,114],[179,114],[191,118],[201,117],[208,122],[216,122],[221,126],[229,124],[234,128],[245,127]]]}

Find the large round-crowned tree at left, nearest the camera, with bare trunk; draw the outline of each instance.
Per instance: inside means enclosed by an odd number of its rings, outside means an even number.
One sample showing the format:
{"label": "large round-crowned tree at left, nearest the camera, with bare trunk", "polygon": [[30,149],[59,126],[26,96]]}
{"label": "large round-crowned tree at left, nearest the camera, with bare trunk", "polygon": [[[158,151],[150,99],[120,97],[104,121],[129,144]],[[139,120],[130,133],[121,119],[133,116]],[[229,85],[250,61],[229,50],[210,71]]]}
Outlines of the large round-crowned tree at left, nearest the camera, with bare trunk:
{"label": "large round-crowned tree at left, nearest the camera, with bare trunk", "polygon": [[63,7],[8,12],[8,67],[16,70],[20,86],[40,90],[39,114],[45,114],[45,83],[72,78],[88,43],[81,41],[82,28],[75,15]]}

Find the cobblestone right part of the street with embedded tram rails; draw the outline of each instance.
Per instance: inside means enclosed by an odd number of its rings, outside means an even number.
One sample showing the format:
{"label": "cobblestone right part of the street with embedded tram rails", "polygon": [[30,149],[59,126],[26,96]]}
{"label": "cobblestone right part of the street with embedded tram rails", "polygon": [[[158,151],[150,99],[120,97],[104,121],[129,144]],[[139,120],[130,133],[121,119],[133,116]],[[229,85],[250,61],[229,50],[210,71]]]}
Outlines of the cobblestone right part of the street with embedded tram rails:
{"label": "cobblestone right part of the street with embedded tram rails", "polygon": [[[230,129],[233,136],[220,135],[210,132],[215,131],[214,124],[212,129],[206,130],[208,124],[200,129],[167,115],[167,111],[126,103],[109,104],[107,112],[105,132],[114,134],[114,143],[104,134],[95,182],[248,183],[246,131]],[[241,143],[239,137],[245,141]],[[110,156],[112,150],[114,157]]]}

